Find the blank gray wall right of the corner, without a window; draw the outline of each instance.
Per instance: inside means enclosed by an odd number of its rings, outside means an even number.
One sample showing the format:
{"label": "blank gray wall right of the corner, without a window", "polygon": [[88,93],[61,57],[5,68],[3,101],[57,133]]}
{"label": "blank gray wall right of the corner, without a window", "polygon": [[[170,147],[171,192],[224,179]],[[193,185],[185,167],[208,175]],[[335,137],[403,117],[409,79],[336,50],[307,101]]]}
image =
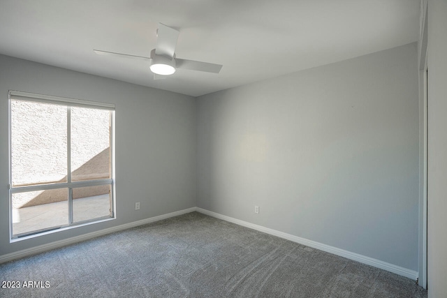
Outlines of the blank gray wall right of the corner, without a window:
{"label": "blank gray wall right of the corner, without a window", "polygon": [[198,207],[418,271],[416,43],[197,109]]}

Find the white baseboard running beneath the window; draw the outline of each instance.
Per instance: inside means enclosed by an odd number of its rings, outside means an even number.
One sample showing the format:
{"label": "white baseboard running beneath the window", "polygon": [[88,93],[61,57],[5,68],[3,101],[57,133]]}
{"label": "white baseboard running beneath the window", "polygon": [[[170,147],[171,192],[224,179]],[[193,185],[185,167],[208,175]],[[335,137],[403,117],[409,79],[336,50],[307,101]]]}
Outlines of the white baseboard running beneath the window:
{"label": "white baseboard running beneath the window", "polygon": [[75,243],[80,242],[80,241],[85,241],[85,240],[88,240],[88,239],[91,239],[91,238],[94,238],[94,237],[103,236],[105,234],[110,234],[112,232],[118,232],[118,231],[130,229],[130,228],[133,228],[133,227],[137,227],[138,225],[145,225],[146,223],[153,223],[154,221],[161,221],[162,219],[166,219],[166,218],[170,218],[170,217],[174,217],[174,216],[179,216],[179,215],[190,213],[190,212],[193,212],[193,211],[196,211],[196,210],[197,210],[196,207],[183,209],[183,210],[171,212],[171,213],[168,213],[168,214],[163,214],[163,215],[160,215],[160,216],[154,216],[154,217],[151,217],[151,218],[146,218],[146,219],[143,219],[141,221],[134,221],[132,223],[125,223],[124,225],[117,225],[116,227],[107,228],[107,229],[99,230],[99,231],[96,231],[96,232],[90,232],[90,233],[87,233],[87,234],[82,234],[82,235],[79,235],[79,236],[76,236],[76,237],[71,237],[71,238],[64,239],[64,240],[50,242],[48,244],[43,244],[43,245],[35,246],[35,247],[32,247],[32,248],[27,248],[27,249],[24,249],[22,251],[15,251],[14,253],[8,253],[6,255],[0,255],[0,264],[4,263],[4,262],[9,262],[11,260],[15,260],[15,259],[18,259],[18,258],[23,258],[23,257],[26,257],[28,255],[34,255],[36,253],[43,253],[44,251],[50,251],[51,249],[54,249],[54,248],[67,246],[69,244],[75,244]]}

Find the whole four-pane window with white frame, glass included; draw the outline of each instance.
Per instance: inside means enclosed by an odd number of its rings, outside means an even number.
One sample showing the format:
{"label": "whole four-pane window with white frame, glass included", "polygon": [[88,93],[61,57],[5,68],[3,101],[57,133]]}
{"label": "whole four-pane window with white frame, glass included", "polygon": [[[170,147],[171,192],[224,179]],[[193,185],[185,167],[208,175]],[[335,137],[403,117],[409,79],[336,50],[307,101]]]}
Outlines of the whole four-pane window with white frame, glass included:
{"label": "whole four-pane window with white frame, glass included", "polygon": [[13,239],[114,217],[115,106],[10,91]]}

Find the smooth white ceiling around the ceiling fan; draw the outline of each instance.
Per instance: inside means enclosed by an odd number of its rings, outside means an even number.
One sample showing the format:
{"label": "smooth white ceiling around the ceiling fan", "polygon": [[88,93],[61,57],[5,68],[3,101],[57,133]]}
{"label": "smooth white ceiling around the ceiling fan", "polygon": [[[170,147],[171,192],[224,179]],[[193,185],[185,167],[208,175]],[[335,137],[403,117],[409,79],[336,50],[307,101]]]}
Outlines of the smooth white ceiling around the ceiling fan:
{"label": "smooth white ceiling around the ceiling fan", "polygon": [[[0,53],[200,96],[418,40],[420,0],[0,0]],[[177,57],[223,64],[153,80],[159,22]]]}

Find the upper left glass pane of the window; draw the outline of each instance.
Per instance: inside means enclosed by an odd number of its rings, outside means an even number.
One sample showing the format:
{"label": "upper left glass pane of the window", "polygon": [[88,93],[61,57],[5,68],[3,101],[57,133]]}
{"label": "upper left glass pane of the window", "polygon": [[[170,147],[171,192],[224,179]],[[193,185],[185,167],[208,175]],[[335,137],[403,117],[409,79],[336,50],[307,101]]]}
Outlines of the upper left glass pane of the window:
{"label": "upper left glass pane of the window", "polygon": [[67,181],[67,108],[11,100],[13,186]]}

